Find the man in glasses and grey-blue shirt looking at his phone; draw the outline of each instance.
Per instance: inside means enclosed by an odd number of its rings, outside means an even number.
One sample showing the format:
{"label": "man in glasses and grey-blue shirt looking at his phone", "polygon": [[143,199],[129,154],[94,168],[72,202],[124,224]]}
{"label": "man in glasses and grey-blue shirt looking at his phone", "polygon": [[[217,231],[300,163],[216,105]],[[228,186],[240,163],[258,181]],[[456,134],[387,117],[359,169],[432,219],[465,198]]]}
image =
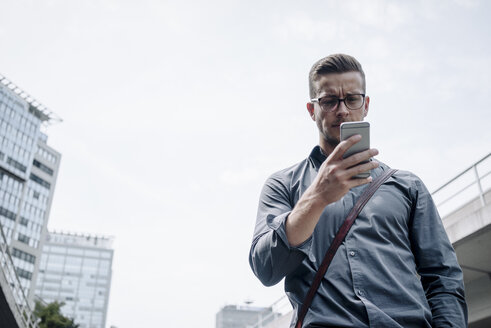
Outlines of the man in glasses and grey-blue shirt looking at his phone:
{"label": "man in glasses and grey-blue shirt looking at his phone", "polygon": [[[367,184],[388,166],[360,140],[340,142],[342,122],[362,121],[370,98],[353,57],[319,60],[309,74],[307,110],[319,146],[265,183],[249,262],[264,285],[285,278],[293,325],[336,232]],[[368,160],[368,162],[366,162]],[[352,178],[370,170],[370,177]],[[463,275],[421,180],[396,172],[359,214],[334,256],[303,327],[466,327]]]}

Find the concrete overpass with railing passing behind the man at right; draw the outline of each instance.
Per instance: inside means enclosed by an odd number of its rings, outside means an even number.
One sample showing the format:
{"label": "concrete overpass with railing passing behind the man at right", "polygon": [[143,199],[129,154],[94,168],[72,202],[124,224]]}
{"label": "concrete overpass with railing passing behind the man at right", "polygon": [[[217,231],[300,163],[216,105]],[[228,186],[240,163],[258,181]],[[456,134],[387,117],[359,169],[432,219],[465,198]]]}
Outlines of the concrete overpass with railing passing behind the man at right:
{"label": "concrete overpass with railing passing behind the man at right", "polygon": [[[462,171],[432,193],[452,242],[464,283],[469,328],[491,327],[491,153]],[[287,327],[292,312],[285,310],[286,296],[273,303],[281,314],[267,325],[250,328]],[[281,304],[281,309],[278,308]]]}

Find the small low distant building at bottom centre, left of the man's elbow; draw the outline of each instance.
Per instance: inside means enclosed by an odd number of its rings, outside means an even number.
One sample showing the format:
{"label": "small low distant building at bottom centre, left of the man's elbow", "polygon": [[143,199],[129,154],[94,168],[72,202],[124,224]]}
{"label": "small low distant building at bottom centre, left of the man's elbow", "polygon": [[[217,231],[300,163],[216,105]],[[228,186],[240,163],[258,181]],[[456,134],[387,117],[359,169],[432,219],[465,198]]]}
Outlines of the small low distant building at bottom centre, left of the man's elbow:
{"label": "small low distant building at bottom centre, left of the man's elbow", "polygon": [[250,305],[226,305],[216,314],[216,328],[256,328],[261,322],[267,324],[277,317],[272,307]]}

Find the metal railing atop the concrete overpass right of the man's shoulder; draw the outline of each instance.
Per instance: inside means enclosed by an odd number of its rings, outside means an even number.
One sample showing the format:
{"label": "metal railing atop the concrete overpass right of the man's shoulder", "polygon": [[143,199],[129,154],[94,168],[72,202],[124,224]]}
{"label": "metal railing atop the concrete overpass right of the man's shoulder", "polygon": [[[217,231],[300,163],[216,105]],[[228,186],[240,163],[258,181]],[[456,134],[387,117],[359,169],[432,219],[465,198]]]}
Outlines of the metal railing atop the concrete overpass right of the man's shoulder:
{"label": "metal railing atop the concrete overpass right of the man's shoulder", "polygon": [[479,198],[486,205],[485,194],[491,189],[491,153],[487,154],[431,193],[442,217],[469,201]]}

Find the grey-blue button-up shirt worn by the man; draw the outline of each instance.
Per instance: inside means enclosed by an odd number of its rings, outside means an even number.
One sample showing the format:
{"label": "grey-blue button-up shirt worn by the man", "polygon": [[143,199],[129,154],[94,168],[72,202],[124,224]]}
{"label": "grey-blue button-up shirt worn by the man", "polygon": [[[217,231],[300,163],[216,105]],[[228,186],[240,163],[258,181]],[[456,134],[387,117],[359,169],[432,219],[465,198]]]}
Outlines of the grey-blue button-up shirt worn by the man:
{"label": "grey-blue button-up shirt worn by the man", "polygon": [[[326,157],[317,146],[265,183],[249,262],[270,286],[285,278],[297,313],[339,227],[365,186],[324,209],[312,236],[288,243],[285,221]],[[372,177],[388,167],[372,170]],[[466,327],[463,275],[431,195],[398,171],[366,204],[339,247],[304,327]]]}

